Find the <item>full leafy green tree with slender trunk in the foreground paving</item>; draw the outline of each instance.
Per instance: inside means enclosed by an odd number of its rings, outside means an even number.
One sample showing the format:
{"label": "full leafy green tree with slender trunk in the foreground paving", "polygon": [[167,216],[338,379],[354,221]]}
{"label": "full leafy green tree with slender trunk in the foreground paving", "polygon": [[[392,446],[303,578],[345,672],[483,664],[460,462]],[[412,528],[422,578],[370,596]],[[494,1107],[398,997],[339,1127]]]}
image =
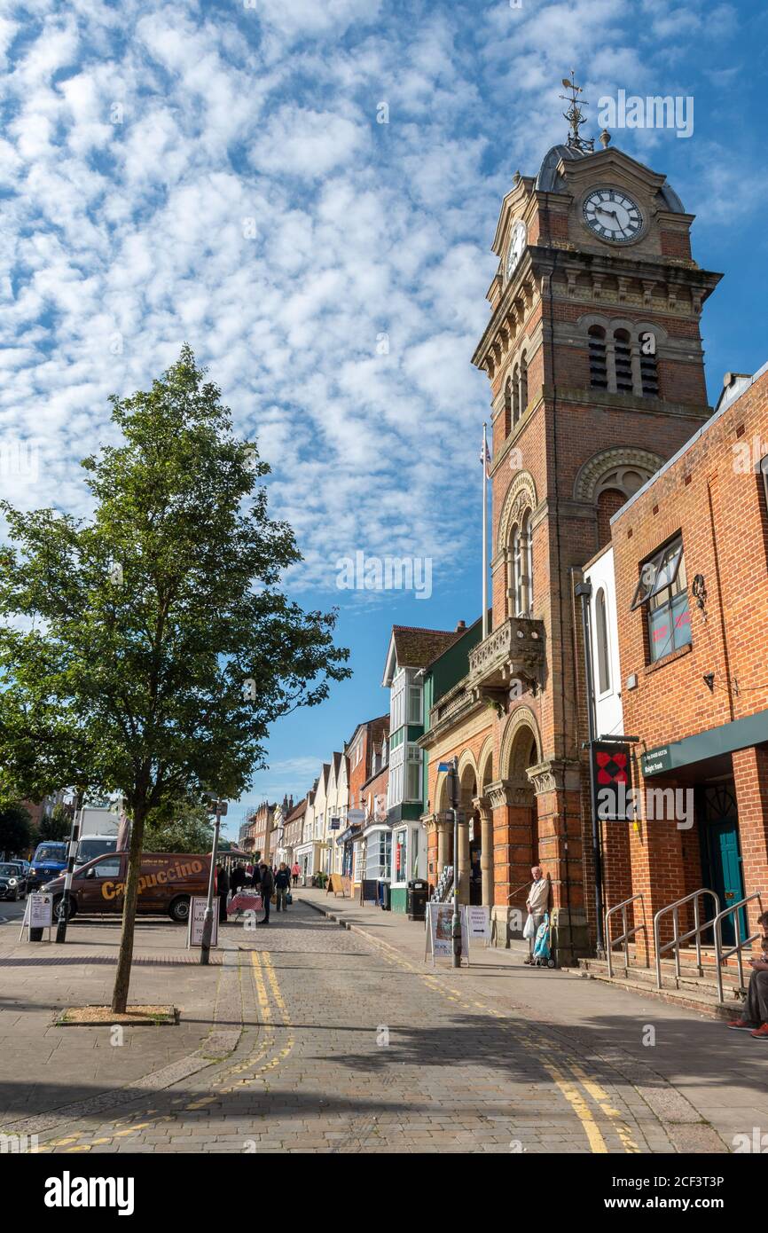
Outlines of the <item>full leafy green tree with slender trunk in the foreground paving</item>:
{"label": "full leafy green tree with slender trunk in the foreground paving", "polygon": [[203,790],[237,799],[270,725],[350,674],[335,612],[281,589],[301,560],[293,533],[268,517],[269,466],[203,379],[185,345],[150,390],[112,396],[122,441],[83,462],[91,519],[0,504],[0,790],[123,793],[117,1012],[148,814]]}

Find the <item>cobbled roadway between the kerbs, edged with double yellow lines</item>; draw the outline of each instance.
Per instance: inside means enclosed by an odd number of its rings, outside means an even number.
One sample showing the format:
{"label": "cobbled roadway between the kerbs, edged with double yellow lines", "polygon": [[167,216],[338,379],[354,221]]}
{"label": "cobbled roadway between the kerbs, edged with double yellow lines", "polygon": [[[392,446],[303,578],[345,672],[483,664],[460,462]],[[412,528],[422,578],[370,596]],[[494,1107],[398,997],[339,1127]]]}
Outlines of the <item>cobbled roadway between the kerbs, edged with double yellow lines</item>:
{"label": "cobbled roadway between the kerbs, edged with double yellow lines", "polygon": [[484,1005],[296,903],[237,946],[226,1062],[49,1134],[39,1150],[674,1150],[639,1091],[558,1033]]}

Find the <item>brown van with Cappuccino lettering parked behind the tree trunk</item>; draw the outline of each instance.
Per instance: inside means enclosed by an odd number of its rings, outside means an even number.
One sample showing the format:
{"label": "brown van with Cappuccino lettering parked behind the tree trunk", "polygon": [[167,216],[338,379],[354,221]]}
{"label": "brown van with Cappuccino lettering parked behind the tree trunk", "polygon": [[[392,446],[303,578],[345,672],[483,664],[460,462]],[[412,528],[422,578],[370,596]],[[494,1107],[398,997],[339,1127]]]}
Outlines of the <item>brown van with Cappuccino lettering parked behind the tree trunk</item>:
{"label": "brown van with Cappuccino lettering parked behind the tree trunk", "polygon": [[[186,922],[192,895],[207,895],[211,856],[186,852],[144,852],[138,883],[137,915],[165,914],[174,921]],[[128,853],[115,852],[97,857],[75,869],[71,878],[69,917],[120,915],[123,909]],[[53,911],[62,910],[64,878],[55,878],[44,887],[53,895]]]}

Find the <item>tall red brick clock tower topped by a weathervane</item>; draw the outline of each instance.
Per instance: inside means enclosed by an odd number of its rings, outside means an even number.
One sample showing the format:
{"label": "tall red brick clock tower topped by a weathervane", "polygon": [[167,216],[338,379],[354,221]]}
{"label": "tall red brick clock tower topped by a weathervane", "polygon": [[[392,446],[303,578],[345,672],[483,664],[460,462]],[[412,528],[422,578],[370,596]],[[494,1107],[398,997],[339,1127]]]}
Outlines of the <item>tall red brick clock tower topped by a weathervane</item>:
{"label": "tall red brick clock tower topped by a weathervane", "polygon": [[515,174],[502,203],[473,355],[492,399],[493,620],[471,661],[477,695],[498,705],[477,804],[492,815],[494,914],[540,862],[561,957],[584,953],[594,924],[574,572],[711,412],[700,314],[721,277],[693,259],[693,216],[666,176],[605,132],[597,150],[579,136],[578,88],[565,84],[567,142],[535,176]]}

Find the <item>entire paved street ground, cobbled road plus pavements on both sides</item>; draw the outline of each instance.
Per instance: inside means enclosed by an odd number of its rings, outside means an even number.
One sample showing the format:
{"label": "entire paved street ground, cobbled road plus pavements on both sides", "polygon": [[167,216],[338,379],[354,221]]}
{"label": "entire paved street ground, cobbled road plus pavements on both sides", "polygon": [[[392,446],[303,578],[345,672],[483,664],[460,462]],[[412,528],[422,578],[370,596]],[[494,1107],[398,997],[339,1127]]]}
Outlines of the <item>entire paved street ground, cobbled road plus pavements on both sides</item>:
{"label": "entire paved street ground, cobbled road plus pavements on both sides", "polygon": [[65,964],[0,926],[0,1129],[43,1153],[725,1153],[768,1129],[761,1042],[519,951],[433,969],[423,925],[317,890],[226,926],[208,969],[142,925],[131,1001],[179,1027],[54,1028],[107,1000],[110,928],[71,930]]}

